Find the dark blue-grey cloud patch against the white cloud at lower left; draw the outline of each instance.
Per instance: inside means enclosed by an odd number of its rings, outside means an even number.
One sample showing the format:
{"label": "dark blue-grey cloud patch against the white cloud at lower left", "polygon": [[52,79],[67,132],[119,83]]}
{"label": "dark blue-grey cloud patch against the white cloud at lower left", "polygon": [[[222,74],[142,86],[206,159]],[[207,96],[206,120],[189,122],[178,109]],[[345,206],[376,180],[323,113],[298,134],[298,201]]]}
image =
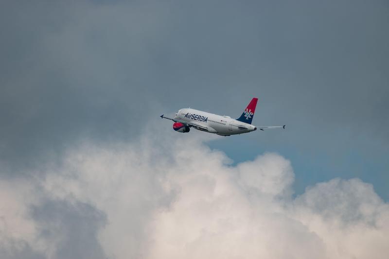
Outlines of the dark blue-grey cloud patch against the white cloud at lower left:
{"label": "dark blue-grey cloud patch against the white cloud at lower left", "polygon": [[93,206],[79,201],[48,200],[32,207],[32,218],[38,238],[51,248],[49,258],[106,258],[97,240],[106,217]]}

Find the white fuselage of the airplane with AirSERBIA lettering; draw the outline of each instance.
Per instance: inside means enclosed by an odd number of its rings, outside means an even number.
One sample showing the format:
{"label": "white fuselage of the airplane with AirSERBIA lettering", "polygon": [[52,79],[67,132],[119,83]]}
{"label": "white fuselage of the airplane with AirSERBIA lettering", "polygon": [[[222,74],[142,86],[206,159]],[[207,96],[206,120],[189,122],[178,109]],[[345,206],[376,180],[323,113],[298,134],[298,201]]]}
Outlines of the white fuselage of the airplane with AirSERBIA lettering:
{"label": "white fuselage of the airplane with AirSERBIA lettering", "polygon": [[242,134],[257,129],[254,125],[231,119],[229,116],[220,116],[191,108],[180,109],[174,118],[180,121],[205,126],[208,130],[195,126],[192,127],[197,130],[215,133],[222,136]]}

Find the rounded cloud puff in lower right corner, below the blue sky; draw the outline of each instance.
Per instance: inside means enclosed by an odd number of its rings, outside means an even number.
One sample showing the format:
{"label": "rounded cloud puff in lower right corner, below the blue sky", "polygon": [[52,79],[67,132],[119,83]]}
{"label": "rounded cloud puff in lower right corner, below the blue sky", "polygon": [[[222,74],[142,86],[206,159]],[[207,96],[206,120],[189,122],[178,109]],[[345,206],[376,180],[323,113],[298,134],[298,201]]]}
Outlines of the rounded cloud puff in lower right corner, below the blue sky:
{"label": "rounded cloud puff in lower right corner, below the blue sky", "polygon": [[333,179],[294,201],[295,217],[322,238],[329,258],[382,258],[388,252],[389,205],[371,184]]}

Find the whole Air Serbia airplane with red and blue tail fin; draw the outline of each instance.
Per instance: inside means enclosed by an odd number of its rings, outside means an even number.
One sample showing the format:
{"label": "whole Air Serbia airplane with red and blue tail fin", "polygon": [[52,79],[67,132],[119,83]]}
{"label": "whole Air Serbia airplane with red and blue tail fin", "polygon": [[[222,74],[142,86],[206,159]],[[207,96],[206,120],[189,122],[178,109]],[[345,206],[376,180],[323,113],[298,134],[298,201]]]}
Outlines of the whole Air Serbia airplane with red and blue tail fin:
{"label": "whole Air Serbia airplane with red and blue tail fin", "polygon": [[189,132],[190,128],[195,128],[196,130],[214,133],[220,136],[230,136],[248,133],[257,129],[262,131],[274,128],[285,129],[286,125],[262,127],[255,127],[254,125],[251,125],[257,102],[258,98],[253,98],[243,111],[242,115],[236,120],[231,119],[230,116],[220,116],[191,108],[178,110],[174,118],[165,117],[164,114],[159,117],[161,117],[161,119],[174,121],[173,129],[182,133]]}

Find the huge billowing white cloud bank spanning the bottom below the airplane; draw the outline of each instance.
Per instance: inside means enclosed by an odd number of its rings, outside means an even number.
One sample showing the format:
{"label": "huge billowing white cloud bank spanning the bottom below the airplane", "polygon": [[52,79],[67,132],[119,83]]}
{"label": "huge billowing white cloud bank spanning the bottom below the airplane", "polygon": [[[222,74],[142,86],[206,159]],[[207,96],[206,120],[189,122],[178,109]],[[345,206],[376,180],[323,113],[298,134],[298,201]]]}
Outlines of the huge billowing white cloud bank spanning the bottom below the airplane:
{"label": "huge billowing white cloud bank spanning the bottom below the airplane", "polygon": [[2,179],[2,258],[28,258],[26,251],[55,259],[389,252],[389,205],[371,184],[336,178],[294,198],[293,169],[281,155],[233,166],[196,136],[87,141],[69,149],[60,167],[46,165],[45,177]]}

